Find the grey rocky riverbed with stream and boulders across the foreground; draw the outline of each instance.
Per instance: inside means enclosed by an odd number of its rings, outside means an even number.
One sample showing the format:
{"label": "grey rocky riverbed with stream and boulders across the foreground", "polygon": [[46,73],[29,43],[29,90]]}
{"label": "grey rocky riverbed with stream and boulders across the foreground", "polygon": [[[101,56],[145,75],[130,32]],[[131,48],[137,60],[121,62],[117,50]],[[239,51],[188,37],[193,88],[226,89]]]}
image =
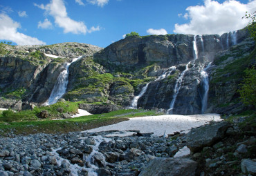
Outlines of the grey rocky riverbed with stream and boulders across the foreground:
{"label": "grey rocky riverbed with stream and boulders across the foreground", "polygon": [[[132,131],[2,137],[0,175],[255,175],[253,135],[226,121],[158,137]],[[188,147],[186,147],[188,146]],[[188,153],[188,148],[192,154]],[[180,149],[183,152],[177,153]],[[180,150],[181,151],[181,150]],[[186,154],[182,156],[182,154]],[[179,155],[178,155],[179,154]],[[180,155],[181,154],[181,155]]]}

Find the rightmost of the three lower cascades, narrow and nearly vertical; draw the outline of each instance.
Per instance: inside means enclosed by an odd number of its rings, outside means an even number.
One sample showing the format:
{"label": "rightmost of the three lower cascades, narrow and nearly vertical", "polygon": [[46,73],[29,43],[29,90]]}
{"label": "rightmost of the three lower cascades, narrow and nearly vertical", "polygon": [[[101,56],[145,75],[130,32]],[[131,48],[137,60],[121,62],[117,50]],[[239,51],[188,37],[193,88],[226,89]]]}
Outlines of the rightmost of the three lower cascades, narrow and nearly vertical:
{"label": "rightmost of the three lower cascades, narrow and nearly vertical", "polygon": [[208,101],[208,90],[209,90],[209,77],[207,73],[207,69],[211,66],[211,62],[208,64],[206,68],[204,68],[201,73],[201,81],[203,85],[203,97],[202,97],[202,108],[201,113],[205,113],[205,110],[207,108],[207,101]]}

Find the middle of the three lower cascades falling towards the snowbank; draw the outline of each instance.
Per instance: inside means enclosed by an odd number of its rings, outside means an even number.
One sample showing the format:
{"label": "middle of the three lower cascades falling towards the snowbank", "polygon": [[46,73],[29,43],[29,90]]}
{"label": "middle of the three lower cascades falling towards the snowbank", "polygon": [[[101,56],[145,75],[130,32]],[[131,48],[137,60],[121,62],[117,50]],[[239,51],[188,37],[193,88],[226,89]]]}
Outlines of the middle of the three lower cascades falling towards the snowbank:
{"label": "middle of the three lower cascades falling towards the snowbank", "polygon": [[183,77],[185,75],[185,72],[188,71],[188,66],[189,65],[190,65],[190,62],[187,63],[185,70],[183,72],[181,72],[181,75],[176,80],[176,84],[175,84],[175,87],[174,87],[174,95],[172,96],[172,102],[170,104],[170,108],[167,110],[167,114],[172,114],[173,113],[173,108],[174,108],[174,104],[175,104],[175,101],[176,101],[176,97],[179,94],[179,90],[181,89],[181,83],[183,81]]}

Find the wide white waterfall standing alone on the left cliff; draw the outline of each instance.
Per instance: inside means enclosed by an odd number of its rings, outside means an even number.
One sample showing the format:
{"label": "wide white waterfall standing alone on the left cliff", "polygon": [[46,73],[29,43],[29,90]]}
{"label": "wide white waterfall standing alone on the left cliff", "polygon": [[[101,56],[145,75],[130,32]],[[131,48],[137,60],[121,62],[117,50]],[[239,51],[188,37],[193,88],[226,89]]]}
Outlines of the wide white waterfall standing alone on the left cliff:
{"label": "wide white waterfall standing alone on the left cliff", "polygon": [[70,63],[65,63],[64,70],[60,72],[60,75],[57,77],[51,95],[44,105],[55,104],[57,103],[57,100],[64,95],[66,87],[68,86],[68,68],[71,66],[71,63],[77,61],[81,57],[82,56],[73,59]]}

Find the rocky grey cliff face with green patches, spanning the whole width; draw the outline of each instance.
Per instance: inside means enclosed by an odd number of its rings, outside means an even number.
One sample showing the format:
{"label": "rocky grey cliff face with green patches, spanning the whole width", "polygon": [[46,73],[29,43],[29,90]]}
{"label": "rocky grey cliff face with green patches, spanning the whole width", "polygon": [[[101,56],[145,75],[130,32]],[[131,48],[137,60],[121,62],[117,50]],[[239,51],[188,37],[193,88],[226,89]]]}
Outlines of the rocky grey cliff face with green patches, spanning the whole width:
{"label": "rocky grey cliff face with green patches, spanning the whole width", "polygon": [[254,48],[255,43],[246,30],[221,36],[127,37],[104,49],[82,43],[2,44],[0,106],[13,107],[19,100],[23,104],[43,104],[64,63],[82,55],[69,67],[63,96],[66,100],[128,107],[138,96],[137,108],[163,108],[181,115],[202,113],[205,105],[202,72],[212,62],[205,70],[210,80],[205,113],[230,113],[234,108],[238,112],[244,106],[237,99],[237,85],[243,77],[240,73],[253,63],[249,56],[255,55]]}

